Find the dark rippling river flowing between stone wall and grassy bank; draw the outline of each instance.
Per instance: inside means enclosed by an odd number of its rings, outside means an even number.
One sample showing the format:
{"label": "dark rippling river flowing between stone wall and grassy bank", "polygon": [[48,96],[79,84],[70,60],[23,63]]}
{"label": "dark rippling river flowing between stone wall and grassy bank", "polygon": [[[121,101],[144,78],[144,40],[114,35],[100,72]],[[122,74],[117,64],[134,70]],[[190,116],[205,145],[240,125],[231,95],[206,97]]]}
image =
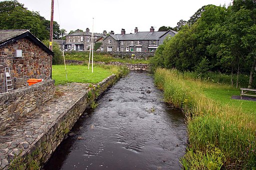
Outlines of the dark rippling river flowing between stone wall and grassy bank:
{"label": "dark rippling river flowing between stone wall and grassy bank", "polygon": [[85,110],[44,170],[180,170],[187,141],[180,110],[153,77],[130,72]]}

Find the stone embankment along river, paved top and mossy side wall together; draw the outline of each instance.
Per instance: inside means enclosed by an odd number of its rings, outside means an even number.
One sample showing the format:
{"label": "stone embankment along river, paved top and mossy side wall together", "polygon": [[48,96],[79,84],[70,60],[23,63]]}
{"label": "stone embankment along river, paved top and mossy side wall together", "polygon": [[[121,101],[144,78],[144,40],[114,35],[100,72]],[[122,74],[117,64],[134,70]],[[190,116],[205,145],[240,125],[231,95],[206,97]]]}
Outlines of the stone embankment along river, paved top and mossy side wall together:
{"label": "stone embankment along river, paved top and mossy side wall together", "polygon": [[52,99],[10,122],[0,131],[0,170],[40,169],[86,107],[118,78],[58,86]]}

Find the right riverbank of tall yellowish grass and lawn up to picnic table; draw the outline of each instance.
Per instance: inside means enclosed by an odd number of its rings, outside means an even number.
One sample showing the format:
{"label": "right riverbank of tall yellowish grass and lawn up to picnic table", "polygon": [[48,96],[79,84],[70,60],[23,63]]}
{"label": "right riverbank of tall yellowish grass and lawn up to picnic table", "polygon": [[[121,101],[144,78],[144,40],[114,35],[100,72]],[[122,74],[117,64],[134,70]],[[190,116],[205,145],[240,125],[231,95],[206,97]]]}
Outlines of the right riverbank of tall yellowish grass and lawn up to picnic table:
{"label": "right riverbank of tall yellowish grass and lawn up to picnic table", "polygon": [[184,169],[256,167],[256,104],[231,100],[239,90],[190,79],[176,70],[157,69],[155,84],[164,99],[186,115],[189,143]]}

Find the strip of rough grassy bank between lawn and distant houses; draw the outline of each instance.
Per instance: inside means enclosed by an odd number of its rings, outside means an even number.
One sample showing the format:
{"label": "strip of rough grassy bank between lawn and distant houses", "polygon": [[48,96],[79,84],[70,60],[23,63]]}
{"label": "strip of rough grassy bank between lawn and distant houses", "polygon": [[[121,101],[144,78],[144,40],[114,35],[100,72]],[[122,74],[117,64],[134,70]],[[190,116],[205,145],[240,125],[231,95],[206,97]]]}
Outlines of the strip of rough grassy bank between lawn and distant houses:
{"label": "strip of rough grassy bank between lawn and distant houses", "polygon": [[[72,51],[72,52],[66,52],[65,53],[65,59],[66,60],[78,60],[78,61],[86,61],[88,62],[89,60],[89,52],[84,52],[84,51]],[[94,53],[93,54],[93,61],[101,61],[105,63],[109,62],[122,62],[122,63],[131,63],[131,64],[137,64],[137,63],[143,63],[143,64],[148,64],[149,60],[144,60],[144,59],[130,59],[130,58],[114,58],[111,57],[110,55],[103,55],[100,53]]]}

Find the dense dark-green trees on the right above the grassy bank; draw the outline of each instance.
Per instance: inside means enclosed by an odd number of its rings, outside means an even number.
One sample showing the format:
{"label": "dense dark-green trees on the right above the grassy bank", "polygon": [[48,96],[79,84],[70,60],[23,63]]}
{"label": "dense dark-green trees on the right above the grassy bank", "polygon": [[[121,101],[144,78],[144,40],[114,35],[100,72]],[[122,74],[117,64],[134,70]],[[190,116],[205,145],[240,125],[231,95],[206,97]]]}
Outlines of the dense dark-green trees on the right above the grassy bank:
{"label": "dense dark-green trees on the right above the grassy bank", "polygon": [[[178,33],[159,45],[151,59],[154,68],[176,68],[207,74],[230,75],[230,84],[255,88],[256,2],[233,0],[226,7],[206,5],[188,22],[182,22]],[[240,75],[246,84],[239,84]]]}

